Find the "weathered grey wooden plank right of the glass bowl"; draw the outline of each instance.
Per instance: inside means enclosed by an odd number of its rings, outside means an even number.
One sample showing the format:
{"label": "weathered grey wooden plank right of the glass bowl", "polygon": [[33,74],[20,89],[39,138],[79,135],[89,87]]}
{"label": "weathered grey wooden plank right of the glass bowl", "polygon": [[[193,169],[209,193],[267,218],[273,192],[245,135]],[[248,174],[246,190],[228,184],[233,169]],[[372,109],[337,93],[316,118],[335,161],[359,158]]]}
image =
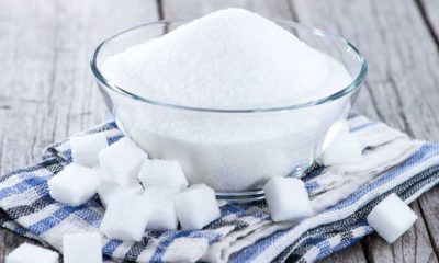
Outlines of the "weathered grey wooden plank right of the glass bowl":
{"label": "weathered grey wooden plank right of the glass bowl", "polygon": [[[438,68],[439,57],[435,39],[415,2],[291,1],[301,22],[336,32],[352,41],[365,54],[370,72],[357,104],[361,113],[379,117],[416,138],[438,141],[439,123],[435,110],[439,105],[439,73],[431,69]],[[423,198],[427,197],[429,203],[439,198],[437,192],[427,193]],[[435,215],[434,208],[421,203],[424,214]],[[438,219],[426,219],[418,226],[414,236],[416,239],[405,238],[390,247],[382,245],[376,237],[368,238],[368,253],[375,255],[370,260],[397,261],[401,255],[415,252],[413,248],[419,249],[416,256],[430,255],[432,244],[423,231],[425,226],[430,232],[437,231]],[[438,235],[431,235],[436,250]],[[399,250],[396,249],[398,245]],[[389,258],[380,260],[381,254]]]}

